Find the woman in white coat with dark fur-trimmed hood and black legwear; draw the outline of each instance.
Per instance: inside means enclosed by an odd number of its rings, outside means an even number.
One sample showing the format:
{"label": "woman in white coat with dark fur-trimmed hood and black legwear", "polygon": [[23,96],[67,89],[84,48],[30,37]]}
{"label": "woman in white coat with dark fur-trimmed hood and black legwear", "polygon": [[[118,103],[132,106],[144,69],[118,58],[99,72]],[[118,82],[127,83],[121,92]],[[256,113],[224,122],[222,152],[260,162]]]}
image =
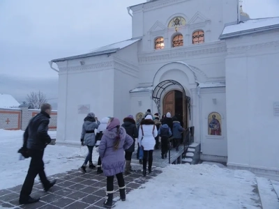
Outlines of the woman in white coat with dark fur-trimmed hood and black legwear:
{"label": "woman in white coat with dark fur-trimmed hood and black legwear", "polygon": [[140,123],[138,142],[144,150],[143,157],[143,174],[146,176],[146,164],[147,156],[149,157],[149,173],[151,173],[151,167],[153,162],[153,150],[156,144],[155,137],[157,137],[158,131],[153,121],[152,116],[148,115]]}

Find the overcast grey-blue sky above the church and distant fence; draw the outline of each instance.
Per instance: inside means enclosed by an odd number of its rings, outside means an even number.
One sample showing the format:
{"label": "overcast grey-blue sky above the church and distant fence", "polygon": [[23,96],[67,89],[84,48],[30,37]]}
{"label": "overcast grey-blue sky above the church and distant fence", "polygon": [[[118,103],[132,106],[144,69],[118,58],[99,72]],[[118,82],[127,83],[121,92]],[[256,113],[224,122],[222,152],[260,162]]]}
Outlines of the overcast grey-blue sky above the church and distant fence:
{"label": "overcast grey-blue sky above the church and distant fence", "polygon": [[[48,61],[130,38],[126,7],[143,2],[0,0],[0,93],[22,101],[40,90],[57,98],[58,75]],[[279,1],[243,0],[243,10],[251,18],[279,16]]]}

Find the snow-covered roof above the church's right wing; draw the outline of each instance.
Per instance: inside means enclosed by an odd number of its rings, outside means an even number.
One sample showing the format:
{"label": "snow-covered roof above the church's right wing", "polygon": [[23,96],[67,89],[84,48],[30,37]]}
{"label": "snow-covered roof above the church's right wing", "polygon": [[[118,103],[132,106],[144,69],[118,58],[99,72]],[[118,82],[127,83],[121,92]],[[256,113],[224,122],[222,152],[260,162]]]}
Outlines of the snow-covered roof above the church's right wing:
{"label": "snow-covered roof above the church's right wing", "polygon": [[247,20],[245,22],[241,22],[239,24],[233,24],[229,26],[225,26],[222,35],[220,38],[225,37],[225,35],[230,33],[241,33],[244,31],[258,31],[260,29],[278,26],[279,27],[279,17],[269,17],[255,20]]}

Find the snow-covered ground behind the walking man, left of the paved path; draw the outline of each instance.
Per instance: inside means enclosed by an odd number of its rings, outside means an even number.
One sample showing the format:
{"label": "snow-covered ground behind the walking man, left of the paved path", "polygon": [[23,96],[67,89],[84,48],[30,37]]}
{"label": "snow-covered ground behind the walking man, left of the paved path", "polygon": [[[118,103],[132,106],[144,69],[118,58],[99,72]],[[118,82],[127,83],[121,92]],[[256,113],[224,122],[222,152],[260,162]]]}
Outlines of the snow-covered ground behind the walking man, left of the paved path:
{"label": "snow-covered ground behind the walking man, left of the paved path", "polygon": [[[21,185],[27,175],[30,159],[19,160],[23,131],[0,130],[0,189]],[[56,137],[56,132],[49,132]],[[73,146],[47,146],[45,148],[45,172],[47,176],[78,169],[84,161],[87,148]],[[98,153],[93,151],[93,161]]]}

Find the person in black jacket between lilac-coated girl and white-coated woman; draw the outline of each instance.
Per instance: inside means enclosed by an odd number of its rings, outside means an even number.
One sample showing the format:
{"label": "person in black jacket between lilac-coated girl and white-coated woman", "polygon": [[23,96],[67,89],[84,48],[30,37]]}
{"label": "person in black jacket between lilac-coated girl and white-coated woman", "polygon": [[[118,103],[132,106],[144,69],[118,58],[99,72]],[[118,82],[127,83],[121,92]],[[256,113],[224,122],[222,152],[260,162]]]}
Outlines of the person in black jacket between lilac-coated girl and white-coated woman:
{"label": "person in black jacket between lilac-coated girl and white-coated woman", "polygon": [[130,148],[125,150],[125,159],[126,159],[125,174],[128,175],[132,170],[130,164],[131,164],[133,152],[135,151],[135,138],[138,137],[137,127],[135,125],[134,117],[132,115],[128,115],[126,118],[124,118],[122,127],[125,128],[126,133],[134,140],[132,146],[130,146]]}

